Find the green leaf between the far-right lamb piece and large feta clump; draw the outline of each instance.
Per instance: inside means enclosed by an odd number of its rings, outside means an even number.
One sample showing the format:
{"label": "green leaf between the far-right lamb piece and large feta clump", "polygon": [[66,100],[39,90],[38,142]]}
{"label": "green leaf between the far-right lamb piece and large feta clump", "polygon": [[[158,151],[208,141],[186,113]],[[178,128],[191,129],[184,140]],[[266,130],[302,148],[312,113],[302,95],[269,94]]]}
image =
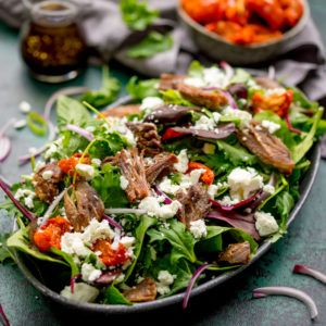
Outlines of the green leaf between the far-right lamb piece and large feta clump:
{"label": "green leaf between the far-right lamb piece and large feta clump", "polygon": [[256,163],[255,155],[249,153],[244,147],[239,143],[229,145],[226,141],[217,140],[216,141],[218,149],[224,152],[225,156],[234,164],[248,164],[252,165]]}

